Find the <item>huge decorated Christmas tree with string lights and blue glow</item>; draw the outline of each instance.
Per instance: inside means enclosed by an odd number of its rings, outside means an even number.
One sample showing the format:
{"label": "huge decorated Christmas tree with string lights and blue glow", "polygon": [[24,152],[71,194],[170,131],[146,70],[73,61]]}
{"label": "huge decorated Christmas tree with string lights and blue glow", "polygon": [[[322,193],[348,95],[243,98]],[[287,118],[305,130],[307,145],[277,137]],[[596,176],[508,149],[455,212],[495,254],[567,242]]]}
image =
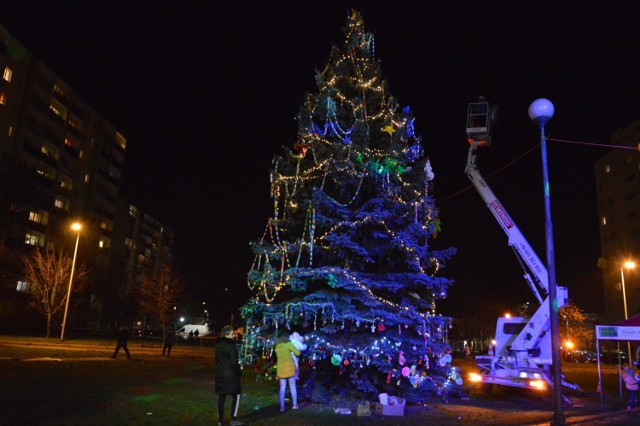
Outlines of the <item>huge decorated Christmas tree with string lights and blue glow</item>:
{"label": "huge decorated Christmas tree with string lights and blue glow", "polygon": [[266,357],[276,335],[297,331],[308,346],[303,393],[314,400],[386,391],[424,401],[461,383],[447,353],[451,318],[435,306],[455,249],[430,246],[440,231],[434,173],[359,13],[344,34],[300,108],[297,142],[273,160],[244,352]]}

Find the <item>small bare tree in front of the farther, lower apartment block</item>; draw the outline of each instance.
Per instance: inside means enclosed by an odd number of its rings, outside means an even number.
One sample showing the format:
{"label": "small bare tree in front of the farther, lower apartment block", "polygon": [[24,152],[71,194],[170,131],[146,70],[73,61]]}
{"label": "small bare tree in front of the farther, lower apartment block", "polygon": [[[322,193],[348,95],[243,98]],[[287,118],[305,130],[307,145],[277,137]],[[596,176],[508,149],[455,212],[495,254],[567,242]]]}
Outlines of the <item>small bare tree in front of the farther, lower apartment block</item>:
{"label": "small bare tree in front of the farther, lower apartment block", "polygon": [[187,298],[184,280],[166,268],[152,276],[141,275],[134,289],[138,296],[138,306],[146,314],[155,315],[162,322],[164,343],[174,306]]}

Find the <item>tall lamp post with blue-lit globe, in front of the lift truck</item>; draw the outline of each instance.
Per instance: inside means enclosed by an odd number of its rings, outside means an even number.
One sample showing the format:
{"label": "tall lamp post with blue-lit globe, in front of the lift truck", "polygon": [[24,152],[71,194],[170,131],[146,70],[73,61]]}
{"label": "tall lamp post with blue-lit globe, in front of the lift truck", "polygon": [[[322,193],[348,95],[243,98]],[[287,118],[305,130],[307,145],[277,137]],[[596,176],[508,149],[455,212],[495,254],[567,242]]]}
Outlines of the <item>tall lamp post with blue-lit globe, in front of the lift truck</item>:
{"label": "tall lamp post with blue-lit globe, in front of the lift truck", "polygon": [[542,150],[542,179],[544,189],[545,240],[547,247],[547,268],[549,281],[549,320],[551,322],[551,361],[553,363],[553,424],[564,425],[562,412],[562,377],[560,370],[560,340],[558,332],[558,295],[556,284],[555,252],[553,248],[553,226],[551,223],[551,200],[549,190],[549,170],[547,166],[547,139],[544,126],[551,120],[555,109],[550,100],[536,99],[529,106],[529,117],[540,126],[540,147]]}

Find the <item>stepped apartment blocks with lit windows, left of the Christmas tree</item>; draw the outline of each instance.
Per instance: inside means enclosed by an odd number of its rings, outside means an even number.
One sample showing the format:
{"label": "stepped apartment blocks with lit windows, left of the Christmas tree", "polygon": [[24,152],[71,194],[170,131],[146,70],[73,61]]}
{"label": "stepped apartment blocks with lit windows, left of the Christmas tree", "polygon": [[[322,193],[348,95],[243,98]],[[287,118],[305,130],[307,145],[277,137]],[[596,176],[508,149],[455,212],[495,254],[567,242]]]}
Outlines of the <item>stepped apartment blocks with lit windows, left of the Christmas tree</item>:
{"label": "stepped apartment blocks with lit windows, left of the Christmas tree", "polygon": [[91,275],[68,324],[101,329],[138,274],[171,262],[173,231],[120,194],[124,134],[2,26],[0,73],[0,321],[28,315],[22,256],[73,251],[77,221]]}

